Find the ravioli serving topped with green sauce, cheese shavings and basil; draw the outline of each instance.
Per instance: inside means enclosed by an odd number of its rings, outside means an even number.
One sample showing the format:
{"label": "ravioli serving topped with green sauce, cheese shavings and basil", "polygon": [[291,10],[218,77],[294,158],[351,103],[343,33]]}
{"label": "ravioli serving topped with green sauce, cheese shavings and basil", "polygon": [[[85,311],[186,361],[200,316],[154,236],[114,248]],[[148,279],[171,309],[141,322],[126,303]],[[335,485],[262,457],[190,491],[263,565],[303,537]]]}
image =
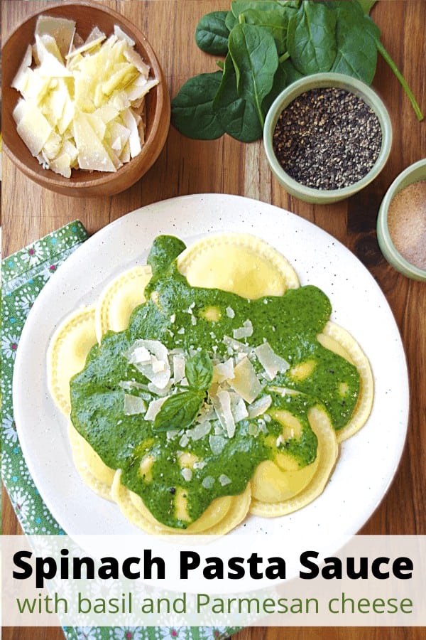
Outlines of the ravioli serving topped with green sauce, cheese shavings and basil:
{"label": "ravioli serving topped with green sauce, cheese shavings and basil", "polygon": [[258,238],[156,238],[84,316],[84,368],[63,359],[80,343],[73,318],[53,336],[50,390],[80,475],[151,533],[227,533],[249,511],[305,506],[373,398],[366,356],[330,313]]}

